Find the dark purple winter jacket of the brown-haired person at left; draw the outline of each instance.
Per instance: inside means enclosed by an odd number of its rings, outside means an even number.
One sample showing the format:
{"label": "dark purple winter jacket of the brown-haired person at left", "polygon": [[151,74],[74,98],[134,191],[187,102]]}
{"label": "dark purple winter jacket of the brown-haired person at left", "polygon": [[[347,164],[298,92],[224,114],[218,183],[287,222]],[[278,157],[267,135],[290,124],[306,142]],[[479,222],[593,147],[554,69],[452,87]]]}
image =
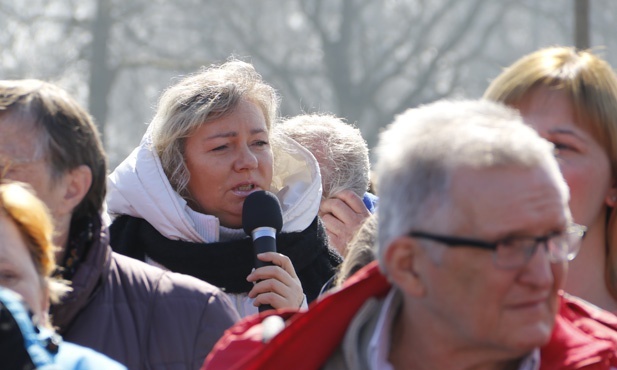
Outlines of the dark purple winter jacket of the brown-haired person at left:
{"label": "dark purple winter jacket of the brown-haired person at left", "polygon": [[65,340],[93,348],[129,369],[199,369],[239,316],[218,288],[112,252],[107,229],[53,305]]}

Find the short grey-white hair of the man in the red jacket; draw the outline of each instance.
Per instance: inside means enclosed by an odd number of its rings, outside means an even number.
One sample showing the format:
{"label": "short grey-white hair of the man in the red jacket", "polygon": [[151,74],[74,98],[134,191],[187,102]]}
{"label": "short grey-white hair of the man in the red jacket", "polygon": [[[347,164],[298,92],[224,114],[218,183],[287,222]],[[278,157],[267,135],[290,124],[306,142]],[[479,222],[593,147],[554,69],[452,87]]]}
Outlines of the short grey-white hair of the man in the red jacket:
{"label": "short grey-white hair of the man in the red jacket", "polygon": [[460,168],[545,168],[568,198],[554,146],[519,113],[487,100],[439,101],[409,109],[380,135],[378,258],[390,242],[451,216],[451,177]]}

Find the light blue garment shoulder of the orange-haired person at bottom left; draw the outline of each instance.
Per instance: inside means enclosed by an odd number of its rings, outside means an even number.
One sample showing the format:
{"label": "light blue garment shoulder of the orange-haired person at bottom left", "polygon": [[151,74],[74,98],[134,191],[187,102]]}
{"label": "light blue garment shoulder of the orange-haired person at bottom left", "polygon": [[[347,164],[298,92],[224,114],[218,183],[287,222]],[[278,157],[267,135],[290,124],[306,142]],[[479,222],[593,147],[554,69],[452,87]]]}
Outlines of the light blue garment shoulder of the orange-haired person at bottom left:
{"label": "light blue garment shoulder of the orange-haired person at bottom left", "polygon": [[70,342],[60,343],[58,354],[55,357],[55,365],[66,370],[126,369],[124,365],[99,352]]}

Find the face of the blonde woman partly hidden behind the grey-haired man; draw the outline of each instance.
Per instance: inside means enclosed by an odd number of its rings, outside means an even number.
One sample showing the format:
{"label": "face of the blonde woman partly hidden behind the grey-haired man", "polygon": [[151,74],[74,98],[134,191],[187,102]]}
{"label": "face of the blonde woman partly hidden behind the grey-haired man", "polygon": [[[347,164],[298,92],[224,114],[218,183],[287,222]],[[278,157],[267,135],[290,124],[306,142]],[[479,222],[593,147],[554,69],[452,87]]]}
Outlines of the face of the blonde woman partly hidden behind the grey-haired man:
{"label": "face of the blonde woman partly hidden behind the grey-haired man", "polygon": [[526,123],[558,149],[559,166],[570,187],[574,222],[604,224],[612,184],[608,154],[593,138],[585,121],[577,121],[570,98],[562,91],[539,87],[517,106]]}

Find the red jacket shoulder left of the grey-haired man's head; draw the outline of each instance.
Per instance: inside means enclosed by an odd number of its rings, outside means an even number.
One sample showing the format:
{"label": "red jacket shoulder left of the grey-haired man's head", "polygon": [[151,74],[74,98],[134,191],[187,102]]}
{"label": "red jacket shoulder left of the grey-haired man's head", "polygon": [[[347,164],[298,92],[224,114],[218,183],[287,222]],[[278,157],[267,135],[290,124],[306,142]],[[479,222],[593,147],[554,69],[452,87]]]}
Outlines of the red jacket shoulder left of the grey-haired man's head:
{"label": "red jacket shoulder left of the grey-haired man's head", "polygon": [[225,332],[202,369],[240,369],[246,364],[251,368],[294,368],[298,358],[303,358],[306,369],[324,365],[346,368],[340,357],[341,340],[354,321],[353,330],[369,321],[373,324],[391,289],[377,262],[372,262],[308,310],[287,308],[244,317]]}

